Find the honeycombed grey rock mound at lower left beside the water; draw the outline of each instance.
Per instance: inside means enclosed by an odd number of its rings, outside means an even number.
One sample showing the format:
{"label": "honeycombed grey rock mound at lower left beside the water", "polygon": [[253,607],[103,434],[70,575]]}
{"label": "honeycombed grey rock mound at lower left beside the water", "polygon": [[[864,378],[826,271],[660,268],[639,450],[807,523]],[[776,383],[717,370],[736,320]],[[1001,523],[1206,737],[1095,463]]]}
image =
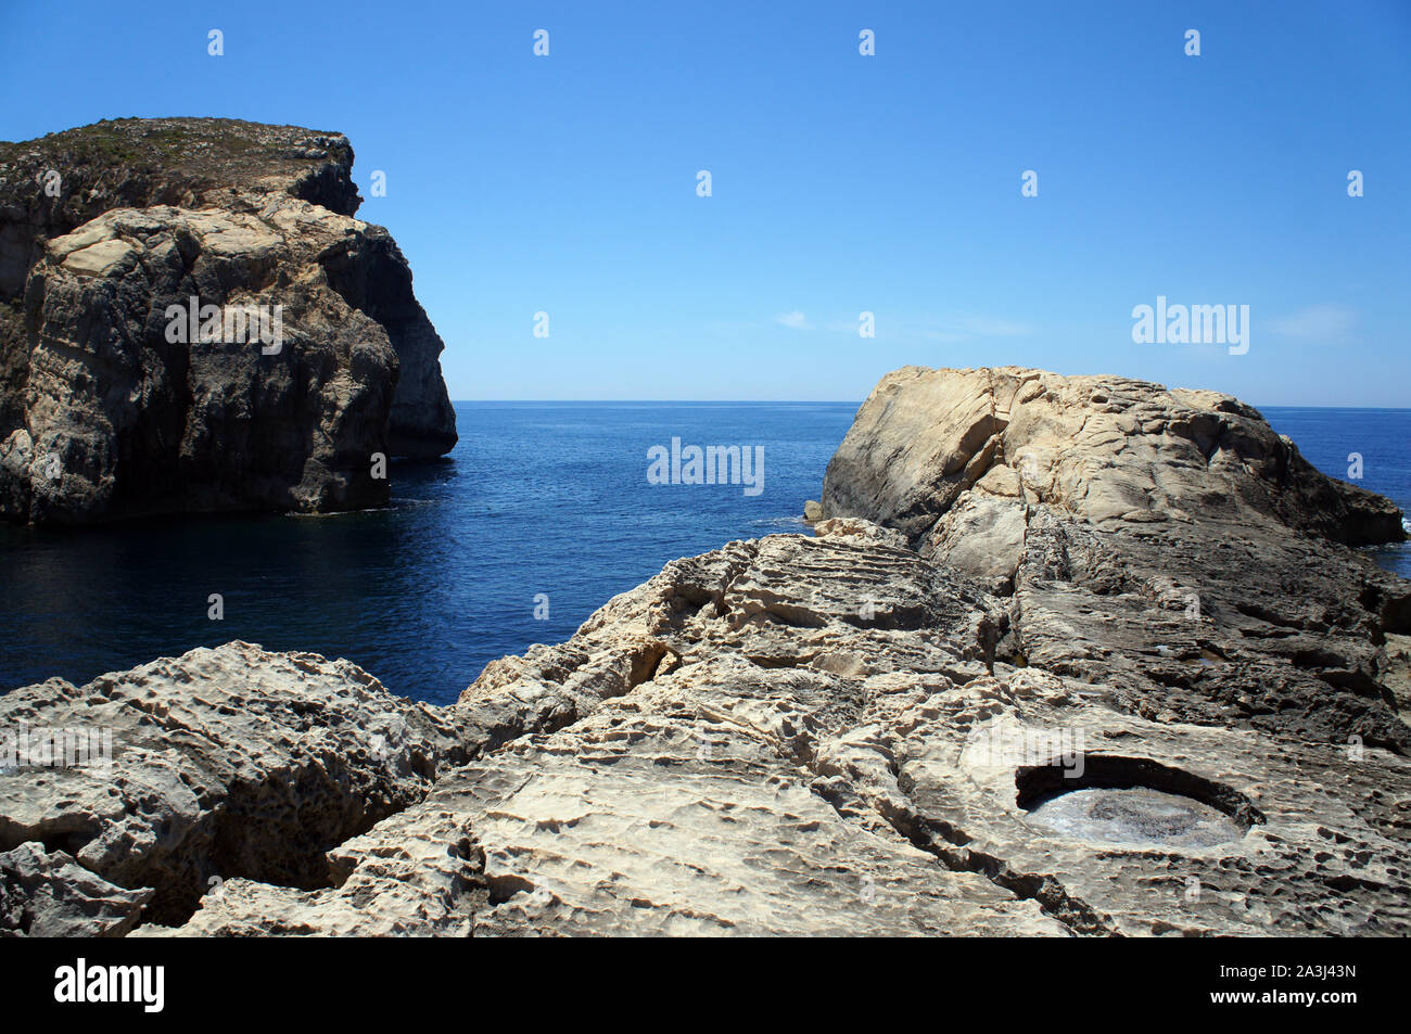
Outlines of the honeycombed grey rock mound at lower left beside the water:
{"label": "honeycombed grey rock mound at lower left beside the water", "polygon": [[323,886],[323,852],[461,763],[457,712],[394,697],[347,662],[198,649],[73,687],[0,697],[0,729],[102,734],[110,765],[0,769],[0,851],[28,842],[189,916],[212,880]]}

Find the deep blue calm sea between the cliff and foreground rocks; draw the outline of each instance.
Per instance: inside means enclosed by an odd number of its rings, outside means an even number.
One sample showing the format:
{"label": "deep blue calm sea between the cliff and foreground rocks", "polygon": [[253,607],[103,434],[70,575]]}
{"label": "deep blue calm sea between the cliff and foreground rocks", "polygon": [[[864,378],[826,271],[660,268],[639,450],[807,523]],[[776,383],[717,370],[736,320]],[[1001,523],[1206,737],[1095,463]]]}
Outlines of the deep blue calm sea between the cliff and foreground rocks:
{"label": "deep blue calm sea between the cliff and foreground rocks", "polygon": [[[447,702],[680,556],[803,528],[856,403],[459,403],[460,444],[392,467],[394,505],[319,518],[0,528],[0,691],[247,639]],[[1335,477],[1411,509],[1411,410],[1267,409]],[[646,450],[763,446],[763,492],[649,485]],[[1411,574],[1404,549],[1379,560]],[[207,618],[222,594],[224,619]],[[542,595],[540,595],[542,594]],[[538,597],[538,601],[536,601]],[[547,619],[536,602],[547,597]],[[542,612],[542,608],[540,608]]]}

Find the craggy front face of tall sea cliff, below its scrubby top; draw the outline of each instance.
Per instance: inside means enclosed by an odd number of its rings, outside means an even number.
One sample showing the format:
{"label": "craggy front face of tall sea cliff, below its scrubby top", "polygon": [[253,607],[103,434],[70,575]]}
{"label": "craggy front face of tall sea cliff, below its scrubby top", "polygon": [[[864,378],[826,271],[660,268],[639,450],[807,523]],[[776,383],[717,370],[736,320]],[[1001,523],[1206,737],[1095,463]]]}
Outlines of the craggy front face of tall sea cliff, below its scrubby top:
{"label": "craggy front face of tall sea cliff, below its scrubby top", "polygon": [[[117,209],[49,241],[25,300],[32,402],[10,442],[30,457],[28,505],[16,516],[385,504],[373,457],[388,450],[396,353],[326,272],[365,230],[286,197],[258,214]],[[278,353],[168,341],[168,306],[186,323],[196,296],[255,306],[248,326],[278,305]]]}

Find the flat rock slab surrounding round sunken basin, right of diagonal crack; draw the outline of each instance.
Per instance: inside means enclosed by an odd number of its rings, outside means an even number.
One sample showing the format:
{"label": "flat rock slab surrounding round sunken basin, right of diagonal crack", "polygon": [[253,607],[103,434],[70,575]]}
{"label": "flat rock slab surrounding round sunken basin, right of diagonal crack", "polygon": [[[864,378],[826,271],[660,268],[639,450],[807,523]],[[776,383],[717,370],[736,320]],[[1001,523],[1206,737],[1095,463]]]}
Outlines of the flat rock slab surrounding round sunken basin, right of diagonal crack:
{"label": "flat rock slab surrounding round sunken basin, right of diagonal crack", "polygon": [[[855,769],[875,773],[879,789],[869,794],[900,800],[895,821],[947,865],[1033,889],[1074,930],[1405,935],[1411,928],[1404,758],[1384,750],[1353,758],[1346,748],[1253,731],[1149,722],[1112,710],[1101,687],[1033,667],[996,666],[993,679],[955,688],[889,676],[871,690],[866,718],[889,735],[848,756]],[[1068,773],[1054,765],[1065,750],[1082,759]],[[895,774],[875,752],[897,759]],[[1026,800],[1030,780],[1037,800]],[[1175,824],[1168,838],[1112,842],[1096,824],[1055,834],[1031,818],[1044,793],[1086,786],[1204,800],[1242,835],[1192,846]]]}

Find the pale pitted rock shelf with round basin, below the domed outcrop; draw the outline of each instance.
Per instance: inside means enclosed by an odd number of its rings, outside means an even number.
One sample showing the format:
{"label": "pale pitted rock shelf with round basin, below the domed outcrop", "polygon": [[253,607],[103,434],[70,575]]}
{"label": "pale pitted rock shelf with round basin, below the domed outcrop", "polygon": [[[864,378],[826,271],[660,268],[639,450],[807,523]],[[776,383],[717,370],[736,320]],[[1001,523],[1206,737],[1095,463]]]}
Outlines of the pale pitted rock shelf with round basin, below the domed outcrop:
{"label": "pale pitted rock shelf with round basin, below the domed outcrop", "polygon": [[[329,852],[329,887],[230,882],[141,932],[1411,932],[1403,756],[1147,719],[992,660],[1005,600],[888,529],[820,530],[674,561],[490,666],[452,708],[478,756]],[[1053,767],[1060,790],[1147,773],[1129,781],[1201,793],[1242,835],[1055,834],[1023,787],[1055,750],[1085,766]]]}

